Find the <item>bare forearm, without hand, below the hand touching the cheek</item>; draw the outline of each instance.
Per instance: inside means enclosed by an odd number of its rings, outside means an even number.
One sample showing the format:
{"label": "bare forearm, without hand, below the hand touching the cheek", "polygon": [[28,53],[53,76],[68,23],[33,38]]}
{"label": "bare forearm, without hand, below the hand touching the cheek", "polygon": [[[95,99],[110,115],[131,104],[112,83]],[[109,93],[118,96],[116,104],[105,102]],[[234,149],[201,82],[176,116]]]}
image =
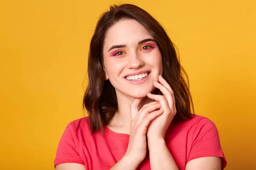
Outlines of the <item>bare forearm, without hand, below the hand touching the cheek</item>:
{"label": "bare forearm, without hand, below the hand touching the cheek", "polygon": [[179,170],[164,139],[148,139],[151,170]]}

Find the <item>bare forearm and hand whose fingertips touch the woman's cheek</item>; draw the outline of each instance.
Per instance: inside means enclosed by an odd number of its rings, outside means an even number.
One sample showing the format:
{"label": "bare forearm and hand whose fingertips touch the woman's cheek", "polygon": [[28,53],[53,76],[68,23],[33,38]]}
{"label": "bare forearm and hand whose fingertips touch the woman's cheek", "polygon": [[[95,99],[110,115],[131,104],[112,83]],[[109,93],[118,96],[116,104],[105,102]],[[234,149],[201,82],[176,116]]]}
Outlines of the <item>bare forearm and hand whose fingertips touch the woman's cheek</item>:
{"label": "bare forearm and hand whose fingertips touch the woman's cheek", "polygon": [[177,113],[175,96],[171,86],[162,76],[159,75],[158,80],[159,82],[154,81],[153,85],[160,89],[163,95],[147,94],[148,98],[159,102],[164,111],[163,115],[154,119],[148,127],[150,167],[152,170],[179,170],[164,140],[166,130]]}

